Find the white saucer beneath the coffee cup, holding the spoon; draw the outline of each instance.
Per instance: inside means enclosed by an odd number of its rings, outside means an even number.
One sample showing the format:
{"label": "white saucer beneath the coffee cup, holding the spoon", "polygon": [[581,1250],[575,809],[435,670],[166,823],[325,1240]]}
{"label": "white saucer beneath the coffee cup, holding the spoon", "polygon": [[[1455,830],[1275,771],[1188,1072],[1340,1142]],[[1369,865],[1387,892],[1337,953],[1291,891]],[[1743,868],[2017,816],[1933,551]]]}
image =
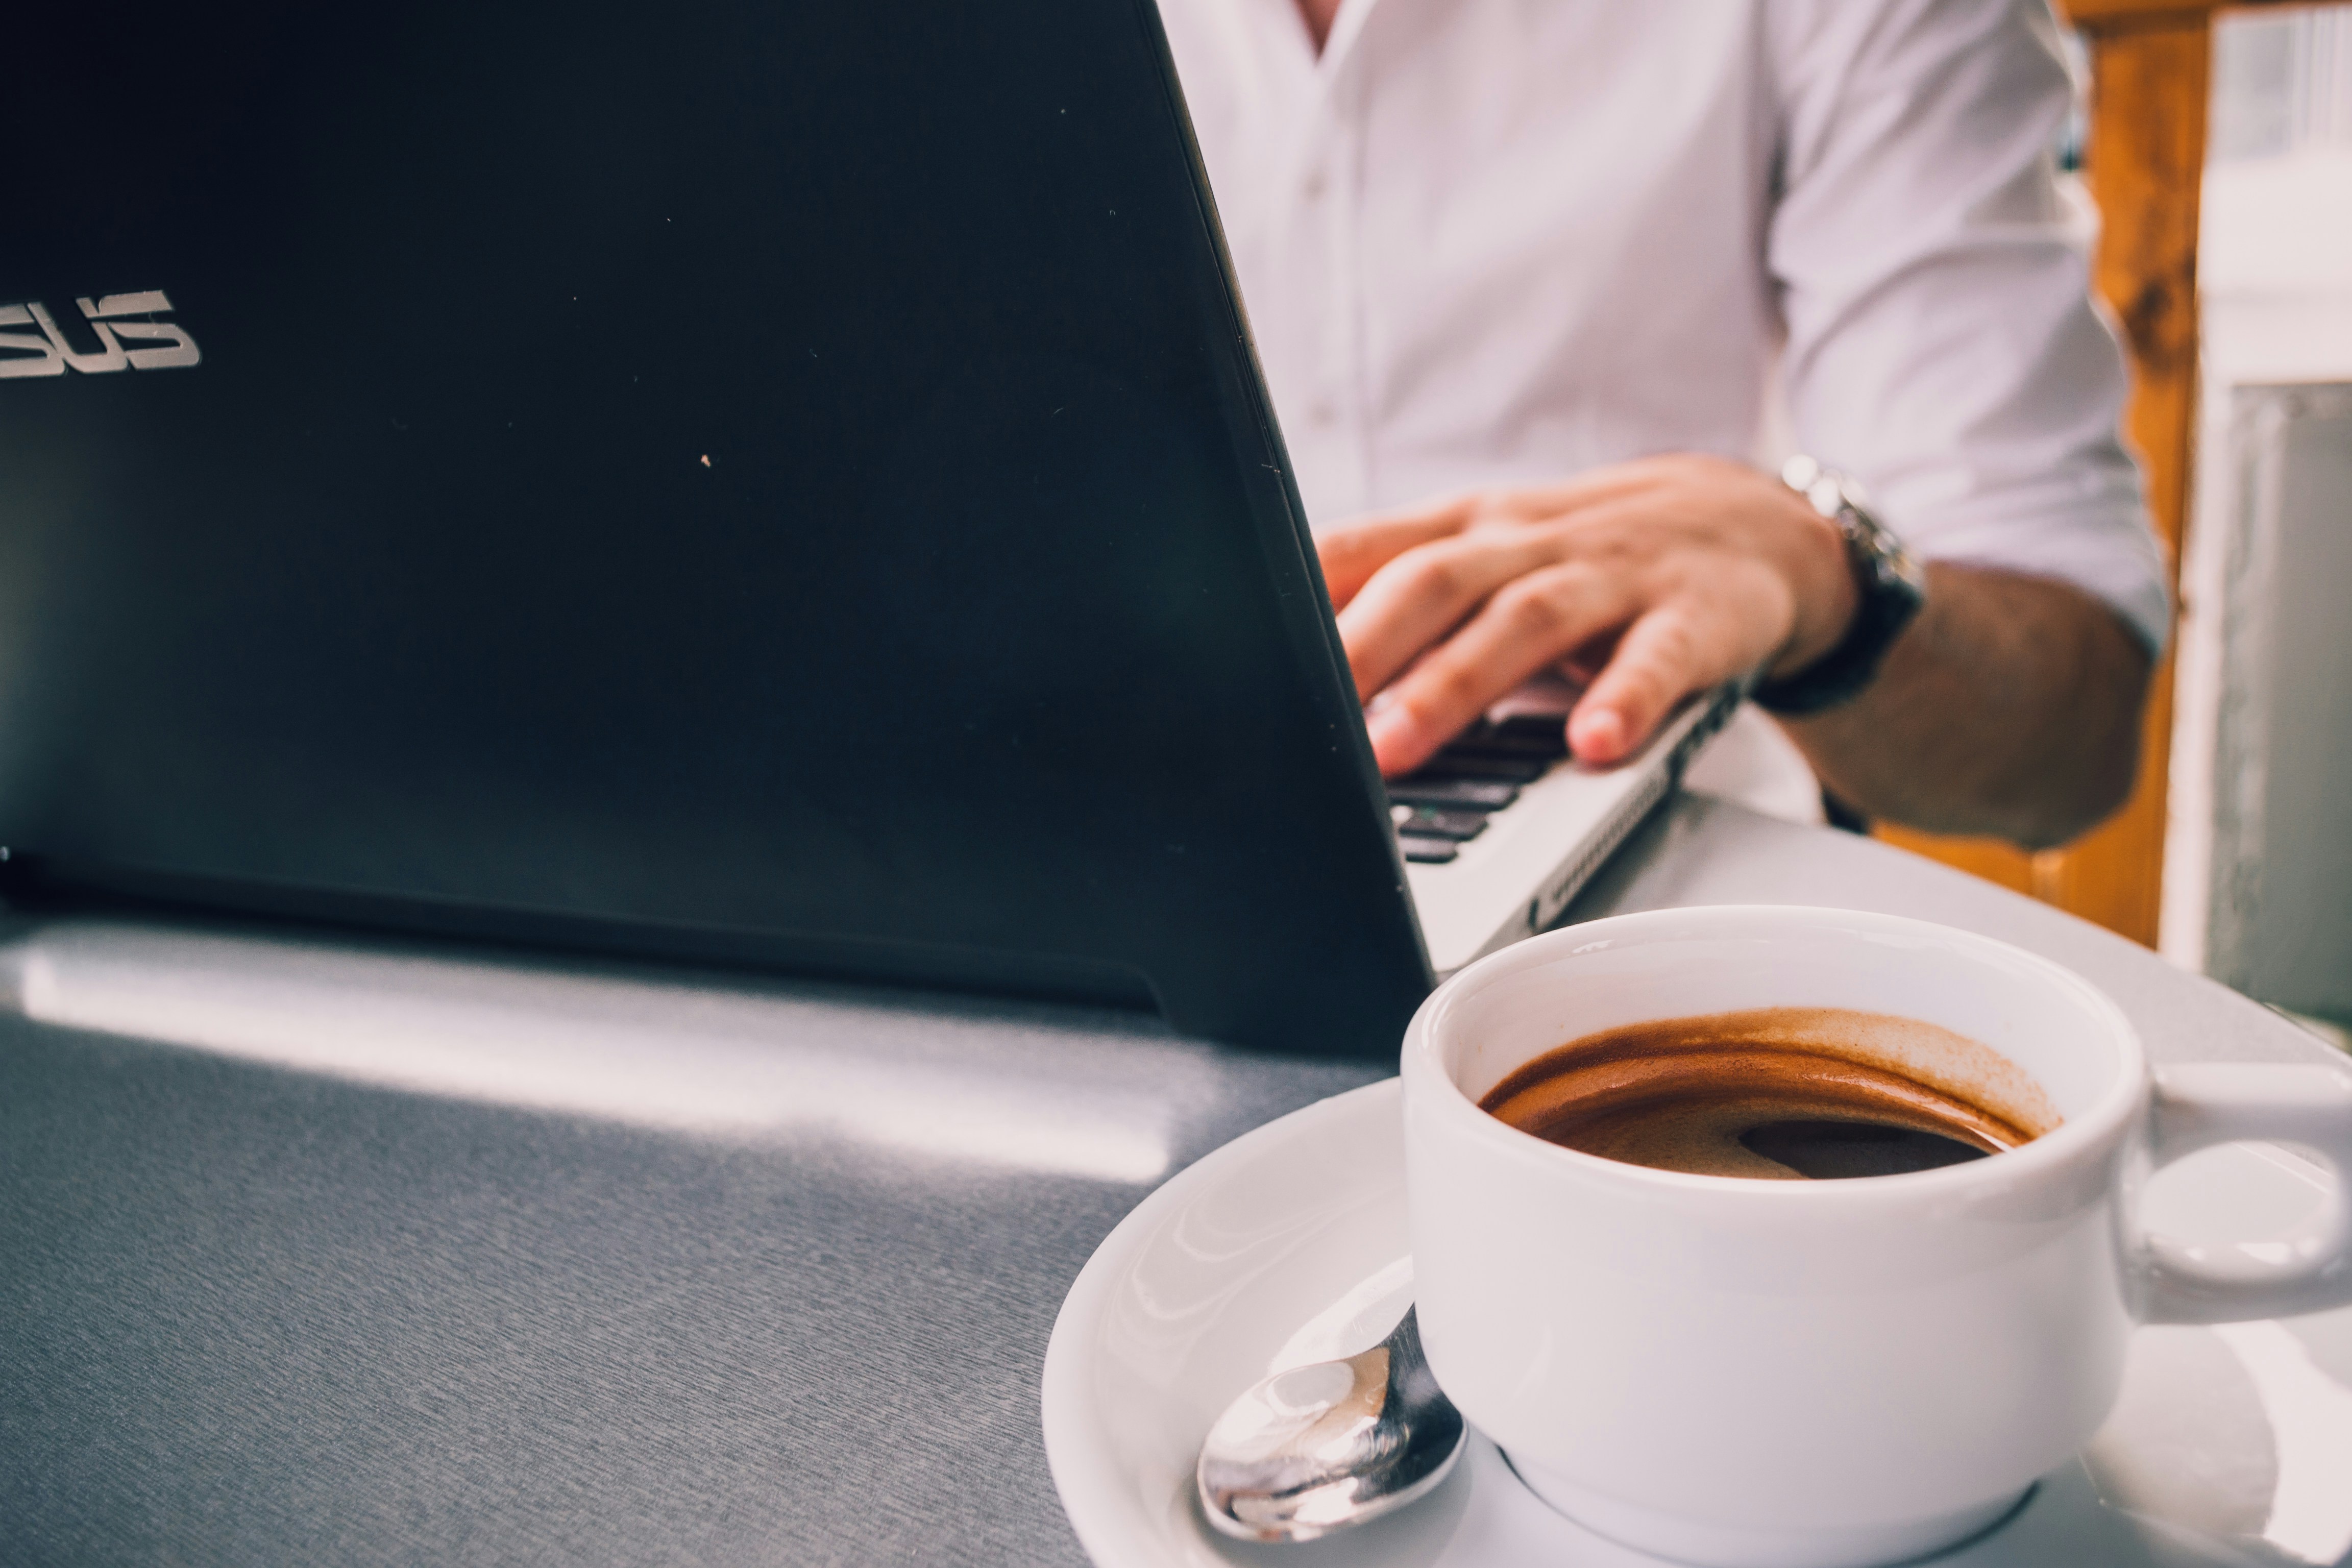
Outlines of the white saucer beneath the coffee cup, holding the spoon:
{"label": "white saucer beneath the coffee cup, holding the spoon", "polygon": [[[2187,1239],[2284,1234],[2324,1192],[2281,1150],[2164,1171],[2150,1220]],[[1635,1568],[1536,1500],[1501,1450],[1425,1502],[1319,1542],[1214,1535],[1192,1458],[1270,1371],[1378,1342],[1411,1302],[1395,1079],[1282,1117],[1171,1178],[1110,1232],[1054,1324],[1044,1446],[1101,1568]],[[2107,1427],[1950,1568],[2352,1561],[2352,1312],[2143,1328]]]}

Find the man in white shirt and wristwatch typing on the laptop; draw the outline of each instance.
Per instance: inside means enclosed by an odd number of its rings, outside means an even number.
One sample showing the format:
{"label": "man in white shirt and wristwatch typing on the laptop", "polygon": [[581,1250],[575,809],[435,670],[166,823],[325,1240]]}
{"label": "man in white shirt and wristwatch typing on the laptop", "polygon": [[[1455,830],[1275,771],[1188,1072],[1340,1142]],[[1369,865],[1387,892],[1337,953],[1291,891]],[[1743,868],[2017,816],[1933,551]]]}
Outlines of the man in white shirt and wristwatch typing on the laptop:
{"label": "man in white shirt and wristwatch typing on the laptop", "polygon": [[[1762,668],[1865,813],[2042,846],[2124,799],[2169,607],[2044,0],[1162,16],[1383,771],[1555,665],[1588,762]],[[1926,562],[1891,639],[1743,461],[1776,383]]]}

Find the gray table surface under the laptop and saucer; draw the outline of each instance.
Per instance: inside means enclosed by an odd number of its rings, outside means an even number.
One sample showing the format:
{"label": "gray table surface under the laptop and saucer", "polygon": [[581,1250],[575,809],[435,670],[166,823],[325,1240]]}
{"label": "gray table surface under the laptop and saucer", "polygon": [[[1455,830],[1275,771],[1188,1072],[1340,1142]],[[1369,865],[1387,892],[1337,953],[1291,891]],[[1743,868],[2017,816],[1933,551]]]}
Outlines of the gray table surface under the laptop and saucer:
{"label": "gray table surface under the laptop and saucer", "polygon": [[[2319,1053],[2065,914],[1684,797],[1569,919],[1924,914],[2159,1060]],[[1110,1013],[205,926],[0,945],[0,1563],[1082,1563],[1063,1291],[1376,1070]]]}

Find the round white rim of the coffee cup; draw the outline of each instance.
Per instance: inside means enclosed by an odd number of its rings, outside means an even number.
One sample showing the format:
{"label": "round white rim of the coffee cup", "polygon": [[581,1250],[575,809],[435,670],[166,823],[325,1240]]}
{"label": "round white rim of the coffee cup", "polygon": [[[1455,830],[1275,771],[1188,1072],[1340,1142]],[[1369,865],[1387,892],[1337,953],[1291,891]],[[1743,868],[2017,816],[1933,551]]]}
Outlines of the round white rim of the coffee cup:
{"label": "round white rim of the coffee cup", "polygon": [[[1446,1016],[1465,997],[1484,990],[1503,976],[1545,964],[1562,957],[1562,952],[1573,957],[1583,947],[1611,943],[1623,933],[1646,933],[1656,926],[1689,929],[1693,924],[1700,929],[1722,926],[1726,931],[1750,931],[1750,922],[1757,919],[1809,924],[1813,931],[1820,931],[1823,926],[1851,929],[1858,924],[1884,933],[1926,936],[1959,947],[1978,947],[1990,954],[1999,954],[2009,964],[2023,964],[2025,969],[2037,971],[2044,980],[2051,980],[2058,990],[2070,992],[2086,1013],[2098,1018],[2122,1053],[2114,1081],[2107,1084],[2098,1098],[2082,1110],[2082,1114],[2067,1117],[2056,1131],[2042,1133],[2032,1143],[2016,1150],[2002,1150],[1997,1159],[1971,1159],[1957,1166],[1907,1171],[1900,1175],[1872,1175],[1867,1180],[1776,1182],[1745,1175],[1658,1171],[1656,1166],[1635,1166],[1621,1159],[1585,1154],[1583,1150],[1536,1138],[1534,1133],[1515,1128],[1501,1117],[1479,1110],[1477,1100],[1472,1100],[1468,1091],[1454,1081],[1454,1074],[1442,1060],[1439,1034]],[[1764,936],[1769,936],[1769,931],[1764,931]],[[2147,1088],[2147,1051],[2140,1044],[2140,1032],[2131,1025],[2131,1018],[2124,1016],[2124,1009],[2117,1006],[2107,992],[2098,990],[2065,964],[2056,964],[2039,952],[2027,952],[2016,943],[2004,943],[1992,936],[1945,926],[1931,919],[1912,919],[1907,914],[1877,914],[1870,910],[1842,910],[1828,905],[1726,903],[1609,914],[1604,919],[1524,938],[1501,952],[1489,952],[1484,959],[1454,971],[1454,976],[1432,990],[1414,1011],[1414,1020],[1404,1030],[1399,1074],[1404,1079],[1406,1105],[1423,1098],[1414,1093],[1416,1079],[1435,1079],[1439,1093],[1435,1095],[1432,1110],[1454,1121],[1458,1128],[1465,1128],[1468,1135],[1496,1140],[1501,1147],[1508,1147],[1524,1159],[1545,1161],[1555,1168],[1564,1166],[1566,1171],[1578,1171],[1588,1178],[1618,1180],[1653,1190],[1717,1192],[1726,1197],[1745,1194],[1745,1201],[1764,1204],[1853,1204],[1870,1201],[1872,1194],[1926,1194],[1936,1187],[1971,1187],[1985,1182],[2011,1185],[2016,1180],[2032,1178],[2037,1171],[2067,1164],[2086,1147],[2112,1138],[2138,1107]]]}

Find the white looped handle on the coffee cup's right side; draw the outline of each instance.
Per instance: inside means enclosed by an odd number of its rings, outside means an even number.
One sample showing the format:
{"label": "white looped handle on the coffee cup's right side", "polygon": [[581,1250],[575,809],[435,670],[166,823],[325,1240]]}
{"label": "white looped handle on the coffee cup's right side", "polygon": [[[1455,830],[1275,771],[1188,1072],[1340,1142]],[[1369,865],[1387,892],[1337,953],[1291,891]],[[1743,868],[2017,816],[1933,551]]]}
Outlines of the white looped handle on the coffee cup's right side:
{"label": "white looped handle on the coffee cup's right side", "polygon": [[2239,1324],[2352,1305],[2352,1067],[2199,1063],[2157,1070],[2152,1159],[2263,1138],[2314,1150],[2326,1204],[2281,1241],[2143,1241],[2143,1321]]}

